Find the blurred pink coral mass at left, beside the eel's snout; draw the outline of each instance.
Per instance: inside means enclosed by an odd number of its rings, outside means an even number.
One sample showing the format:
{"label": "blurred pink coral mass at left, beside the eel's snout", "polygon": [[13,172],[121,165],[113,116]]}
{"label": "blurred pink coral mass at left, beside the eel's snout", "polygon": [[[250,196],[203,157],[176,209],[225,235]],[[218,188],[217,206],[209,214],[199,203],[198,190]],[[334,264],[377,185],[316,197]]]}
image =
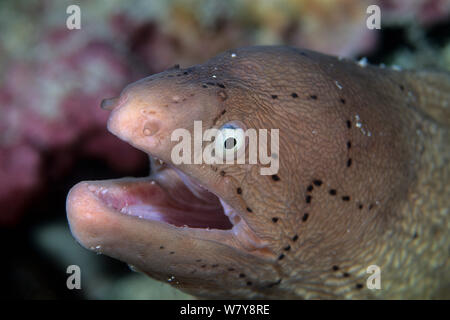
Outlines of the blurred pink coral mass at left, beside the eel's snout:
{"label": "blurred pink coral mass at left, beside the eel's snout", "polygon": [[[70,153],[82,142],[85,155],[121,170],[143,162],[141,153],[107,133],[108,113],[99,108],[102,97],[131,81],[118,50],[68,30],[49,32],[39,46],[42,56],[11,63],[0,89],[0,224],[15,222],[42,187],[50,174],[41,168],[45,153]],[[53,169],[70,165],[70,156],[53,159]]]}

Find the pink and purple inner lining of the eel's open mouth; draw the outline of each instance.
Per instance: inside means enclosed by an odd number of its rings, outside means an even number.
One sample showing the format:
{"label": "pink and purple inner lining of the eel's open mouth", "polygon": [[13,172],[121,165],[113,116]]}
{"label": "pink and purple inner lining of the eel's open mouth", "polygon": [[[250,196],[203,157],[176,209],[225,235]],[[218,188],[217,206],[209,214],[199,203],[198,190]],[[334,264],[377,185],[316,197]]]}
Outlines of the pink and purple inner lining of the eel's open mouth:
{"label": "pink and purple inner lining of the eel's open mouth", "polygon": [[179,228],[231,230],[241,220],[220,197],[179,169],[155,158],[150,163],[149,177],[119,179],[113,187],[90,185],[89,190],[114,211]]}

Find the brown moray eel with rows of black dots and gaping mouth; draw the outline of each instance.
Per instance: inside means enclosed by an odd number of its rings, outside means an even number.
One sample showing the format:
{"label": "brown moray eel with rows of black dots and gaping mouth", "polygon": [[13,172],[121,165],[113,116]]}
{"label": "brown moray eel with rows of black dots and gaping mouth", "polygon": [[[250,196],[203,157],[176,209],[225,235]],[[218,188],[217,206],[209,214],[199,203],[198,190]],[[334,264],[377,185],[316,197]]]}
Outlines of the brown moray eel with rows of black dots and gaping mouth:
{"label": "brown moray eel with rows of black dots and gaping mouth", "polygon": [[[71,231],[198,297],[449,298],[449,104],[446,73],[285,46],[175,66],[103,103],[113,134],[165,164],[77,184]],[[171,133],[194,120],[278,128],[278,173],[175,166]],[[370,265],[381,289],[366,285]]]}

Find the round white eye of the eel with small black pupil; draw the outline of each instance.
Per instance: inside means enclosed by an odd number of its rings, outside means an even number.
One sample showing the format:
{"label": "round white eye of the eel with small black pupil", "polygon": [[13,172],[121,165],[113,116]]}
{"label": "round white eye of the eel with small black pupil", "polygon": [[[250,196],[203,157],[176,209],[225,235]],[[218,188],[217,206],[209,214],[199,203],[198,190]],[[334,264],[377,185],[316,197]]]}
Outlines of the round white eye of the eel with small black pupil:
{"label": "round white eye of the eel with small black pupil", "polygon": [[227,159],[237,157],[238,152],[245,147],[245,134],[242,127],[235,121],[220,127],[214,140],[216,154],[224,155]]}

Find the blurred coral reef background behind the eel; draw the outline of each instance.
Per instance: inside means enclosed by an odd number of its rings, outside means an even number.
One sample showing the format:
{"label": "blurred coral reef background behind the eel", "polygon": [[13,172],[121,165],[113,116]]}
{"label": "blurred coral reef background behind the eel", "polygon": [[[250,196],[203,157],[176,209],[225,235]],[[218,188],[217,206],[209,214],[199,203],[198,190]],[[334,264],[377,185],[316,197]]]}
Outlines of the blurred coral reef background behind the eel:
{"label": "blurred coral reef background behind the eel", "polygon": [[[143,176],[145,155],[106,130],[101,99],[128,83],[239,46],[288,44],[371,63],[450,70],[448,0],[0,2],[2,295],[27,299],[189,296],[76,244],[65,197],[81,180]],[[366,27],[370,4],[381,30]],[[157,259],[157,257],[155,257]],[[66,268],[82,269],[82,290]]]}

